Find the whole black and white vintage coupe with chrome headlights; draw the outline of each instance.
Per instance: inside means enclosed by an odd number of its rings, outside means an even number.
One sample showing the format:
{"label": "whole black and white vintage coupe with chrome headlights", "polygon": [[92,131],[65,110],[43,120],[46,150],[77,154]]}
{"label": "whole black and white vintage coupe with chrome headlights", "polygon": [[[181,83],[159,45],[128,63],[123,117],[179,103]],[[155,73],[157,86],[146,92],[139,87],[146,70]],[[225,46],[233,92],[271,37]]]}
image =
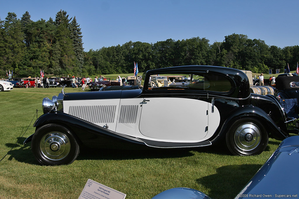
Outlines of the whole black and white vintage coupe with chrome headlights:
{"label": "whole black and white vintage coupe with chrome headlights", "polygon": [[[150,81],[150,76],[169,74],[190,80],[184,87],[159,87]],[[289,118],[274,95],[251,93],[245,73],[226,67],[149,70],[141,89],[62,91],[42,104],[44,114],[24,144],[31,141],[33,155],[43,165],[72,163],[82,146],[183,148],[224,141],[234,155],[256,155],[269,137],[290,136]],[[184,120],[178,110],[186,112]]]}

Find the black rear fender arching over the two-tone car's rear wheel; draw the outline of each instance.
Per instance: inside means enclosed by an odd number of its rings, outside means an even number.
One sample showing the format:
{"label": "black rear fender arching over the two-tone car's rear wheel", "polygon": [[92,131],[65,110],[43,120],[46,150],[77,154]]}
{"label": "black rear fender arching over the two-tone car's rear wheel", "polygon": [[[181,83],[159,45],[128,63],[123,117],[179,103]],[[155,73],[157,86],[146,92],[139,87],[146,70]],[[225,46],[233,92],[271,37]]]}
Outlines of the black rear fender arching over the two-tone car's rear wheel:
{"label": "black rear fender arching over the two-tone car's rear wheel", "polygon": [[283,140],[289,137],[289,134],[282,128],[277,126],[277,124],[270,118],[270,116],[265,111],[263,111],[259,107],[255,107],[252,105],[239,107],[234,112],[232,112],[231,115],[225,120],[222,126],[222,130],[226,132],[231,126],[232,122],[236,121],[236,119],[246,117],[257,118],[259,121],[261,121],[264,124],[267,132],[271,133],[271,135],[269,135],[270,137],[273,137],[277,140]]}

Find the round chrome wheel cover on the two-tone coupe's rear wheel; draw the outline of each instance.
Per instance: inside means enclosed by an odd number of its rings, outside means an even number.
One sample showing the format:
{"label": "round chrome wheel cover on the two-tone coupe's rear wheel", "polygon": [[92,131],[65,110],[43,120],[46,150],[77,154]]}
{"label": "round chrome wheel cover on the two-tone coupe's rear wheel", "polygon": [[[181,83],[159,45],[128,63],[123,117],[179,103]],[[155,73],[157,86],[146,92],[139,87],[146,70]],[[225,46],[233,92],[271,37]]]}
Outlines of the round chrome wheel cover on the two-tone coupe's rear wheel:
{"label": "round chrome wheel cover on the two-tone coupe's rear wheel", "polygon": [[261,143],[260,129],[253,123],[241,124],[234,132],[234,142],[242,151],[251,151]]}

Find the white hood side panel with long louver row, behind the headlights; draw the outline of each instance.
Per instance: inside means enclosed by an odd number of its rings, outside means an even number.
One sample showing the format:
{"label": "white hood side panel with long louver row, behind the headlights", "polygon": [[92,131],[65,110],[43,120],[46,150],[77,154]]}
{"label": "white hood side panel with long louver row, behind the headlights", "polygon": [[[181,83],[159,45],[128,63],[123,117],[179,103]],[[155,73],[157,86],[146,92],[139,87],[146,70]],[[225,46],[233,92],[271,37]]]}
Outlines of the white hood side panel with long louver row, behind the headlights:
{"label": "white hood side panel with long louver row, behind the headlights", "polygon": [[69,115],[115,131],[120,99],[63,101],[63,111]]}

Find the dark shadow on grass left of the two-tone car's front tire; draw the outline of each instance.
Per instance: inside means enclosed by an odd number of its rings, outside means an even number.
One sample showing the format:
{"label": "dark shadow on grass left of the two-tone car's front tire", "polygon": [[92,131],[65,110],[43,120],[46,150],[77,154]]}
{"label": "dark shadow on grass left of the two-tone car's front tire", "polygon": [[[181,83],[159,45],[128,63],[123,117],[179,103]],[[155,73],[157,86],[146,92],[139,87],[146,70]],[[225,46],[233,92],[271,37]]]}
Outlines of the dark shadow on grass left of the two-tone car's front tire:
{"label": "dark shadow on grass left of the two-tone car's front tire", "polygon": [[24,146],[23,144],[25,139],[26,138],[18,137],[17,144],[15,143],[5,144],[7,147],[12,148],[9,152],[7,152],[7,155],[10,155],[8,160],[12,160],[14,158],[16,161],[19,162],[24,162],[28,164],[37,164],[37,161],[32,154],[31,148],[28,147],[30,146],[30,144],[26,144],[26,146]]}

